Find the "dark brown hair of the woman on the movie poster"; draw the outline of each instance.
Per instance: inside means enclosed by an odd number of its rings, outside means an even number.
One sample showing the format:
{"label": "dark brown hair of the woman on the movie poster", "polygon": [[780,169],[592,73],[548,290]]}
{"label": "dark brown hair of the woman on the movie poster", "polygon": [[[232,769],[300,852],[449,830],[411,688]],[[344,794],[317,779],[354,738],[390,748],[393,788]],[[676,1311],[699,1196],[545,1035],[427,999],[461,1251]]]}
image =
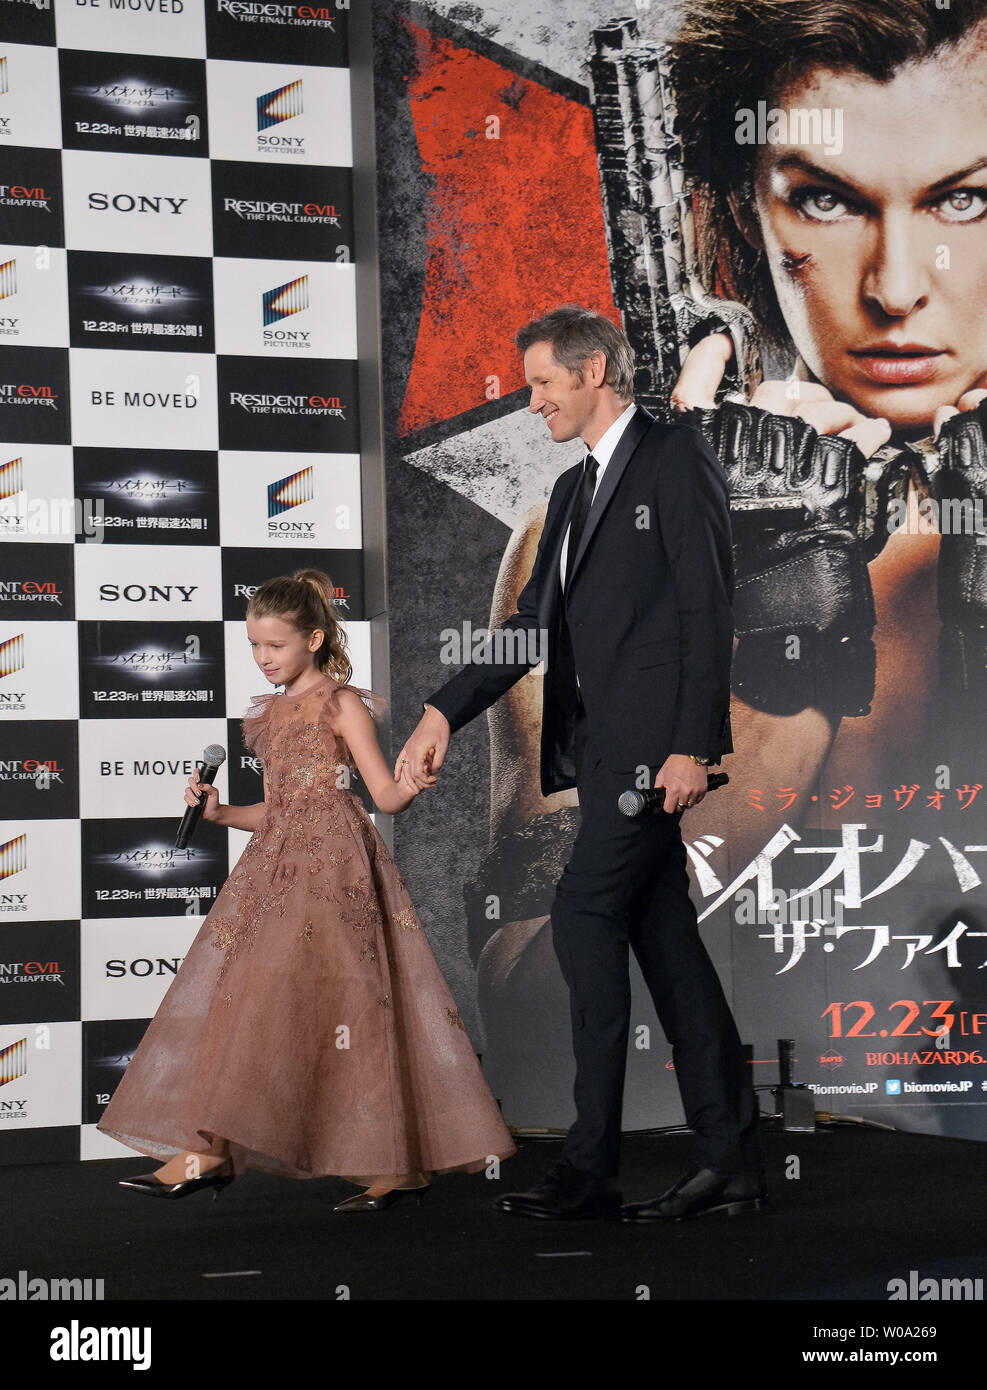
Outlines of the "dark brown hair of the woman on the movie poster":
{"label": "dark brown hair of the woman on the movie poster", "polygon": [[788,336],[766,260],[727,202],[733,193],[753,207],[758,146],[737,143],[741,107],[770,106],[816,68],[890,82],[905,64],[959,44],[984,18],[987,0],[943,8],[936,0],[687,0],[670,57],[706,288],[747,303],[778,342]]}

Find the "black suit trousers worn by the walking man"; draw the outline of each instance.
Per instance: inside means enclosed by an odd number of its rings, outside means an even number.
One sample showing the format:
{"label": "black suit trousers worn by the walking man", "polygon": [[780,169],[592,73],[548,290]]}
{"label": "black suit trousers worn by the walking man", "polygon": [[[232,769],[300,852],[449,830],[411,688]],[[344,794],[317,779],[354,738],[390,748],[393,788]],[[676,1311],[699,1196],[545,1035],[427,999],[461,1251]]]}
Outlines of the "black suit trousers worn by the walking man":
{"label": "black suit trousers worn by the walking man", "polygon": [[[671,1044],[696,1159],[721,1172],[762,1166],[758,1104],[741,1042],[690,899],[680,817],[617,810],[626,773],[603,766],[576,723],[581,826],[552,905],[552,940],[569,986],[576,1113],[562,1156],[609,1179],[620,1159],[631,987],[628,945]],[[656,767],[651,769],[653,785]]]}

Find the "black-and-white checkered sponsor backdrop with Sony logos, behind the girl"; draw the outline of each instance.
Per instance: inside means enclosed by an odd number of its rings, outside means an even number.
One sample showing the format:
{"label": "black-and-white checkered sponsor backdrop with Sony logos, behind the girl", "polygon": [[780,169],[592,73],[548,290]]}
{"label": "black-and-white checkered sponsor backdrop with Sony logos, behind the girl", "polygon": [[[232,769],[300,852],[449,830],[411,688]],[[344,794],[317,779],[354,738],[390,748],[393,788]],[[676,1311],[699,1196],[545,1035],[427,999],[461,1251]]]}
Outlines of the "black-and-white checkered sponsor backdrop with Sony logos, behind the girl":
{"label": "black-and-white checkered sponsor backdrop with Sony logos, behind the girl", "polygon": [[253,589],[361,591],[349,3],[0,0],[0,1162],[95,1129],[242,851]]}

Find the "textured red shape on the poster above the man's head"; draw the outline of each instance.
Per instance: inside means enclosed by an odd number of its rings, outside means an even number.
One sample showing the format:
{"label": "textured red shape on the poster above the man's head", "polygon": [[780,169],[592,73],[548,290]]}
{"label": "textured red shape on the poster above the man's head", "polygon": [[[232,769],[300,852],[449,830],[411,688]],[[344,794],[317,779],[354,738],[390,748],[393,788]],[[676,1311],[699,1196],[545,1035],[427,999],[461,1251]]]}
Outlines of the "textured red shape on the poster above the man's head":
{"label": "textured red shape on the poster above the man's head", "polygon": [[535,314],[571,302],[620,322],[589,108],[407,28],[411,118],[435,186],[402,435],[524,386],[514,334]]}

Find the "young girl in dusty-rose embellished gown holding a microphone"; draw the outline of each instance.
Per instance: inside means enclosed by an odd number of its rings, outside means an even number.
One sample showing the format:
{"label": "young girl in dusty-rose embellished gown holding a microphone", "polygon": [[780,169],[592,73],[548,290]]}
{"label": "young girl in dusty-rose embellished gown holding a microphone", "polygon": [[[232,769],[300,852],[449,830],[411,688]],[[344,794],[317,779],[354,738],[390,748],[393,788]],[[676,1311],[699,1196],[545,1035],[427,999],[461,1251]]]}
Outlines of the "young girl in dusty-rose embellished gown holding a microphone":
{"label": "young girl in dusty-rose embellished gown holding a microphone", "polygon": [[352,769],[381,812],[416,794],[384,762],[380,696],[348,684],[324,574],[268,580],[246,628],[284,685],[243,720],[264,801],[224,806],[189,778],[206,820],[253,835],[97,1127],[174,1155],[122,1183],[147,1195],[218,1195],[256,1168],[368,1184],[335,1211],[421,1200],[428,1175],[475,1172],[514,1145]]}

